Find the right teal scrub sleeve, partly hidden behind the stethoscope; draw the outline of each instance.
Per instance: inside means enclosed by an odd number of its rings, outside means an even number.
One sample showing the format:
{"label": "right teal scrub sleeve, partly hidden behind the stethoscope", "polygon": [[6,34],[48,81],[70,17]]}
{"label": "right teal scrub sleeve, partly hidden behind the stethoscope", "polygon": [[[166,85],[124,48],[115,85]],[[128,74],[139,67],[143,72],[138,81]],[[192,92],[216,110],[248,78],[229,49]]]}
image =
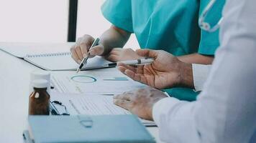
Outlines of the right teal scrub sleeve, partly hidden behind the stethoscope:
{"label": "right teal scrub sleeve, partly hidden behind the stethoscope", "polygon": [[[209,3],[209,0],[202,0],[200,14]],[[217,1],[206,16],[205,21],[214,26],[221,19],[221,11],[225,4],[224,0]],[[199,54],[214,55],[219,47],[219,29],[214,32],[201,30],[201,40],[198,48]]]}

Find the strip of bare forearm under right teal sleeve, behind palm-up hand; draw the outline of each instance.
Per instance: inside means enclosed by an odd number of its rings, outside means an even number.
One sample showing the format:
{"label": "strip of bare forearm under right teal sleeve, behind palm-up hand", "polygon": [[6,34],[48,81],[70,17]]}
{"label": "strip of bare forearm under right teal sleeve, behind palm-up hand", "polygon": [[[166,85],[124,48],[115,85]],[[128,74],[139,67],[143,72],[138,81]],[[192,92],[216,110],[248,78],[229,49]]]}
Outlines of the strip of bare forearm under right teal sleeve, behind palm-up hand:
{"label": "strip of bare forearm under right teal sleeve, behind palm-up hand", "polygon": [[187,54],[184,56],[178,56],[180,61],[189,64],[212,64],[214,56],[202,55],[202,54]]}

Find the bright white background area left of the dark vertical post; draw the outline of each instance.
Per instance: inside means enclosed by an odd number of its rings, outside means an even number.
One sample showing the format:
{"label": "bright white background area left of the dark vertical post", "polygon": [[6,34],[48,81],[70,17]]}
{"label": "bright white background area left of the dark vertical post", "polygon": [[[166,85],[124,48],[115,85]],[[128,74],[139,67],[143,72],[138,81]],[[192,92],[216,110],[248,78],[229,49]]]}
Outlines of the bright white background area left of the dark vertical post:
{"label": "bright white background area left of the dark vertical post", "polygon": [[67,39],[68,0],[0,0],[0,41]]}

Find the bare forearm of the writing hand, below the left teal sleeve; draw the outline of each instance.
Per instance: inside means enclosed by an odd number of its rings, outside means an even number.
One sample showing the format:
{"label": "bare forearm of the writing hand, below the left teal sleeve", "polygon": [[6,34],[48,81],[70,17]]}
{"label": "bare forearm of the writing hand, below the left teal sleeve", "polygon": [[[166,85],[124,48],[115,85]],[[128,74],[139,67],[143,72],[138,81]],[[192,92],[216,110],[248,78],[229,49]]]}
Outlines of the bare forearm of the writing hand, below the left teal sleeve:
{"label": "bare forearm of the writing hand, below the left teal sleeve", "polygon": [[109,52],[116,47],[123,47],[127,43],[131,33],[117,28],[116,26],[111,26],[108,30],[101,35],[100,44],[104,46],[104,54],[109,54]]}

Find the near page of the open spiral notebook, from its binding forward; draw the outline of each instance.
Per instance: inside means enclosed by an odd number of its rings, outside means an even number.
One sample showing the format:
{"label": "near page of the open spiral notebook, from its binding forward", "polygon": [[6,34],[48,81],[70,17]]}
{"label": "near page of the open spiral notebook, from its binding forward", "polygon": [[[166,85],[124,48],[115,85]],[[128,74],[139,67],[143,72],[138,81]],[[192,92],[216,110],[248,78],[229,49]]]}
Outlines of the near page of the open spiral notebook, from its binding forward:
{"label": "near page of the open spiral notebook, from its binding forward", "polygon": [[[24,57],[24,60],[41,69],[50,71],[76,71],[79,66],[79,64],[71,58],[70,52],[27,55]],[[82,70],[104,68],[104,64],[109,63],[111,62],[101,56],[95,56],[88,59],[86,66]]]}

